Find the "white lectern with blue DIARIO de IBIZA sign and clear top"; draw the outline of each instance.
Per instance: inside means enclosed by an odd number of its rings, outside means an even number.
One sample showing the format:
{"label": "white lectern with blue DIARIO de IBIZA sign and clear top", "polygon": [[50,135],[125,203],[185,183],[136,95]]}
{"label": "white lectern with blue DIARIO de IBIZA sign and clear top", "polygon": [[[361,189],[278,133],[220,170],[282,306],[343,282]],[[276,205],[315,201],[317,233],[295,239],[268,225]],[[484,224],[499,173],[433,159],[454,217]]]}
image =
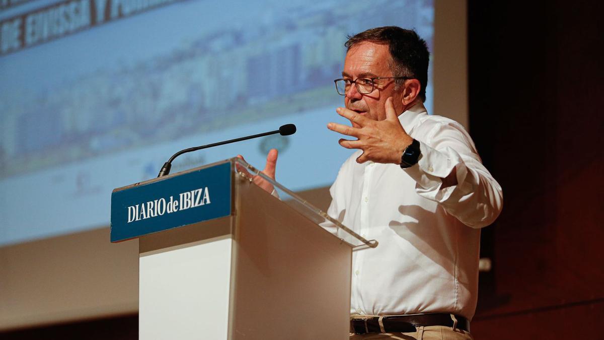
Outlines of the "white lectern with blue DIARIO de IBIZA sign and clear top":
{"label": "white lectern with blue DIARIO de IBIZA sign and clear top", "polygon": [[132,238],[140,339],[347,339],[352,252],[377,246],[237,158],[115,189]]}

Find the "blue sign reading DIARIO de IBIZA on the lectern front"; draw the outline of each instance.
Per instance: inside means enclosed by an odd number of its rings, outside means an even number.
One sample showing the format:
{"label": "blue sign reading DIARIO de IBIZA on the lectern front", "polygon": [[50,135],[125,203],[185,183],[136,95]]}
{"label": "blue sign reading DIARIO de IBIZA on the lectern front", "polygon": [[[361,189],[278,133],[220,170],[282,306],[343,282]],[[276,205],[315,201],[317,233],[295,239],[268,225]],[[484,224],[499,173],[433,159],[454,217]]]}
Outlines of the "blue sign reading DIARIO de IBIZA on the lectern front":
{"label": "blue sign reading DIARIO de IBIZA on the lectern front", "polygon": [[111,195],[111,241],[231,215],[231,163],[165,178]]}

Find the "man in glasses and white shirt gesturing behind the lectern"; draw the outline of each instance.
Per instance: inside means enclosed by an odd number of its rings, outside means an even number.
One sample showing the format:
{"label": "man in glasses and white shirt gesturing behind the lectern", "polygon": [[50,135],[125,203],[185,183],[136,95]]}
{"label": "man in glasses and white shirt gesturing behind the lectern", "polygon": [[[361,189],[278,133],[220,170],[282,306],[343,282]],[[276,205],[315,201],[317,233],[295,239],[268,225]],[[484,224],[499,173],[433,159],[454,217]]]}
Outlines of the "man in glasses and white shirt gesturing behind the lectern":
{"label": "man in glasses and white shirt gesturing behind the lectern", "polygon": [[[336,112],[352,126],[327,127],[359,150],[328,214],[379,241],[353,253],[350,338],[471,339],[480,228],[499,215],[501,187],[460,124],[426,113],[429,53],[414,31],[372,28],[345,46]],[[273,177],[276,160],[271,151]]]}

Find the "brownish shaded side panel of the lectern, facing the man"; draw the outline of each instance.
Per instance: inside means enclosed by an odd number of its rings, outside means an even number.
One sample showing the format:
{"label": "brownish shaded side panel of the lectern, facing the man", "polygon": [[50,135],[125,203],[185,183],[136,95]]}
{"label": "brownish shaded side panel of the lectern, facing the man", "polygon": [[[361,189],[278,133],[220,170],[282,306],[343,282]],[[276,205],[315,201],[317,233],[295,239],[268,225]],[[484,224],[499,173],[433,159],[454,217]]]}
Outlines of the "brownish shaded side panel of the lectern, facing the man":
{"label": "brownish shaded side panel of the lectern, facing the man", "polygon": [[238,197],[232,339],[347,339],[349,244],[249,182]]}

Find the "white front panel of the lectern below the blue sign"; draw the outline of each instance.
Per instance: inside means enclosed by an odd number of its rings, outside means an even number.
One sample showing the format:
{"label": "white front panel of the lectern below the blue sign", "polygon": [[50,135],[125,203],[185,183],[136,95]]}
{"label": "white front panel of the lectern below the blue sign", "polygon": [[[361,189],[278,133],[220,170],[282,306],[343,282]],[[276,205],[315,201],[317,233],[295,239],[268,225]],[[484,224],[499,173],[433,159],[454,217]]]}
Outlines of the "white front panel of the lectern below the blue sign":
{"label": "white front panel of the lectern below the blue sign", "polygon": [[140,339],[226,339],[231,237],[140,254]]}

